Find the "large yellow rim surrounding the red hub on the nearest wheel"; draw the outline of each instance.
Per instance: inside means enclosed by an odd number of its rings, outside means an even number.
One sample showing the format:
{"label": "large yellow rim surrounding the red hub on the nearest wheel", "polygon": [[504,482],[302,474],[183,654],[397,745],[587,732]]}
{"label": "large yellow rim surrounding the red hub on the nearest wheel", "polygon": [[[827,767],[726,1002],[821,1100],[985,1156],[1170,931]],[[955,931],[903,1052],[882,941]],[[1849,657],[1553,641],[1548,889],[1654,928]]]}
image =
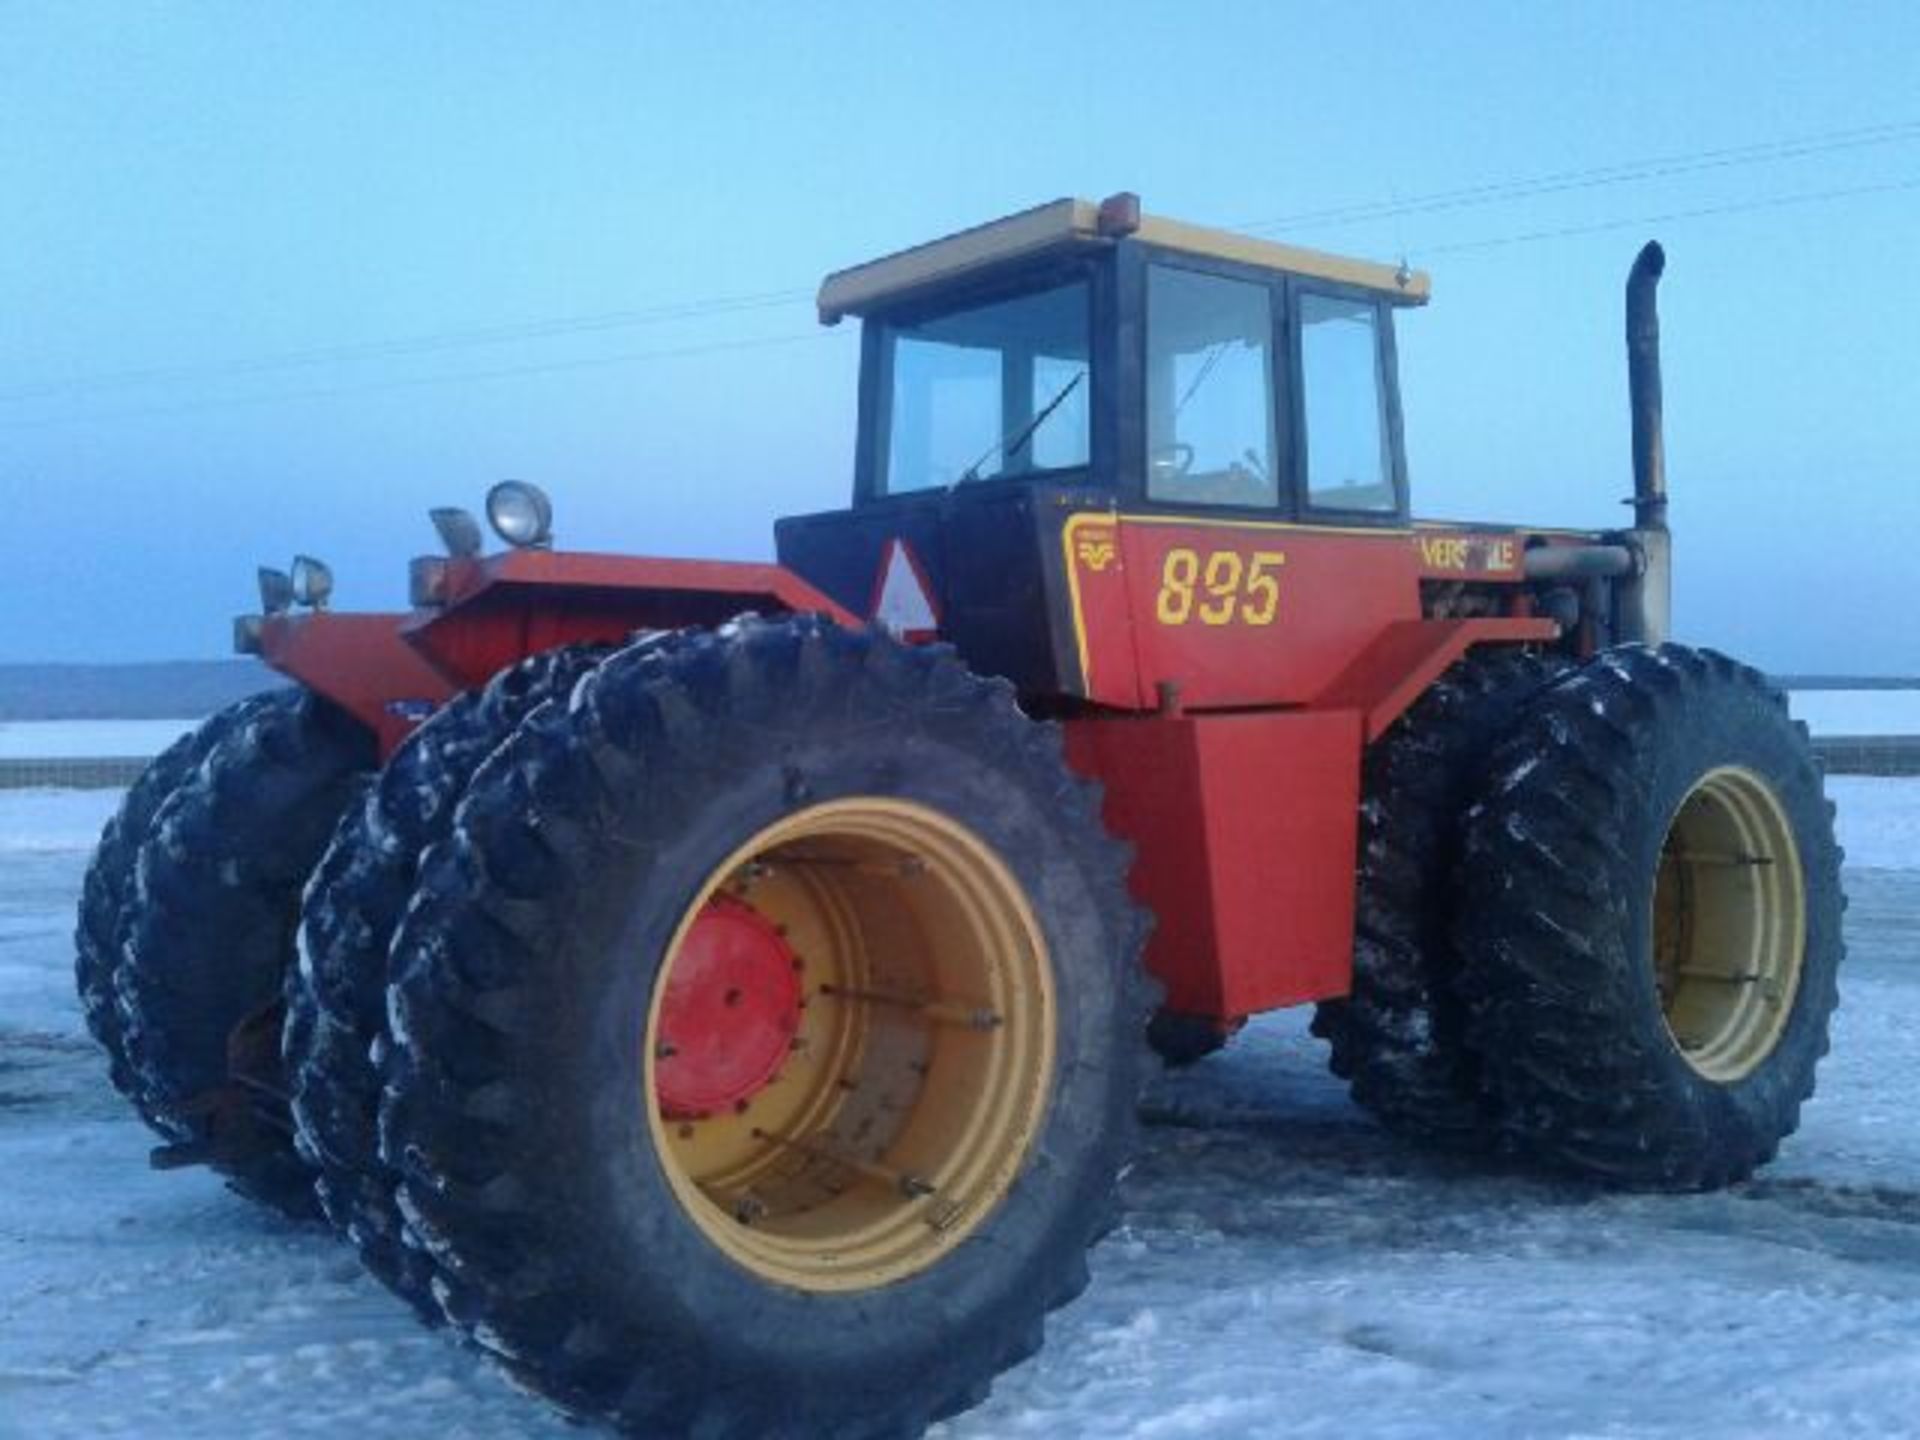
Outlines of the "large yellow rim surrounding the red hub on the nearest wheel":
{"label": "large yellow rim surrounding the red hub on the nearest wheel", "polygon": [[[660,1014],[714,897],[772,924],[803,998],[787,1064],[691,1117],[659,1098]],[[1025,1164],[1054,1069],[1046,941],[1020,881],[954,820],[895,799],[816,804],[693,897],[643,1058],[657,1152],[714,1246],[799,1290],[889,1284],[966,1240]]]}

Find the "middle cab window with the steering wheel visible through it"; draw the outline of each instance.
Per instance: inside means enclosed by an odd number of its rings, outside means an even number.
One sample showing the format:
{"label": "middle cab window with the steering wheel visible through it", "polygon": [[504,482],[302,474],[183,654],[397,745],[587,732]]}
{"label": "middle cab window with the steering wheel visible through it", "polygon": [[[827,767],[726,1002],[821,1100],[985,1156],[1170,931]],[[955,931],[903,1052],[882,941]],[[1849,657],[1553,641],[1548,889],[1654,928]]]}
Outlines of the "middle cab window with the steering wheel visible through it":
{"label": "middle cab window with the steering wheel visible through it", "polygon": [[1273,292],[1171,265],[1146,271],[1146,495],[1277,505]]}

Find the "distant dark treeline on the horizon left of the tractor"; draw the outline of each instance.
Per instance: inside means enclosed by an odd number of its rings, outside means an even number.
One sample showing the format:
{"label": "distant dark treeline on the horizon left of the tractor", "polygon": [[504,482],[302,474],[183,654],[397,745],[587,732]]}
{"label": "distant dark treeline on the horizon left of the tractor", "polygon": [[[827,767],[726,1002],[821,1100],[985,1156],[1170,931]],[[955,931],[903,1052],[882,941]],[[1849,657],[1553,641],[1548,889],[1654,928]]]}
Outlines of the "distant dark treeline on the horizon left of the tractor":
{"label": "distant dark treeline on the horizon left of the tractor", "polygon": [[259,660],[0,664],[0,720],[192,720],[284,684]]}

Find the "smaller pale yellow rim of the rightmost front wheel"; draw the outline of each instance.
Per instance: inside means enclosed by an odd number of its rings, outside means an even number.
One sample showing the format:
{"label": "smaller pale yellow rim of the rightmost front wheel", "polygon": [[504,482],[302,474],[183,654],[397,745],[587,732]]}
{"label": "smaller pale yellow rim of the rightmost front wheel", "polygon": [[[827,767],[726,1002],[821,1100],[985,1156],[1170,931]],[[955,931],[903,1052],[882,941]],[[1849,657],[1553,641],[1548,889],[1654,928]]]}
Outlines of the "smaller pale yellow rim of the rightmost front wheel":
{"label": "smaller pale yellow rim of the rightmost front wheel", "polygon": [[1653,887],[1667,1029],[1711,1081],[1751,1075],[1793,1014],[1807,885],[1780,797],[1751,770],[1709,770],[1674,812]]}

